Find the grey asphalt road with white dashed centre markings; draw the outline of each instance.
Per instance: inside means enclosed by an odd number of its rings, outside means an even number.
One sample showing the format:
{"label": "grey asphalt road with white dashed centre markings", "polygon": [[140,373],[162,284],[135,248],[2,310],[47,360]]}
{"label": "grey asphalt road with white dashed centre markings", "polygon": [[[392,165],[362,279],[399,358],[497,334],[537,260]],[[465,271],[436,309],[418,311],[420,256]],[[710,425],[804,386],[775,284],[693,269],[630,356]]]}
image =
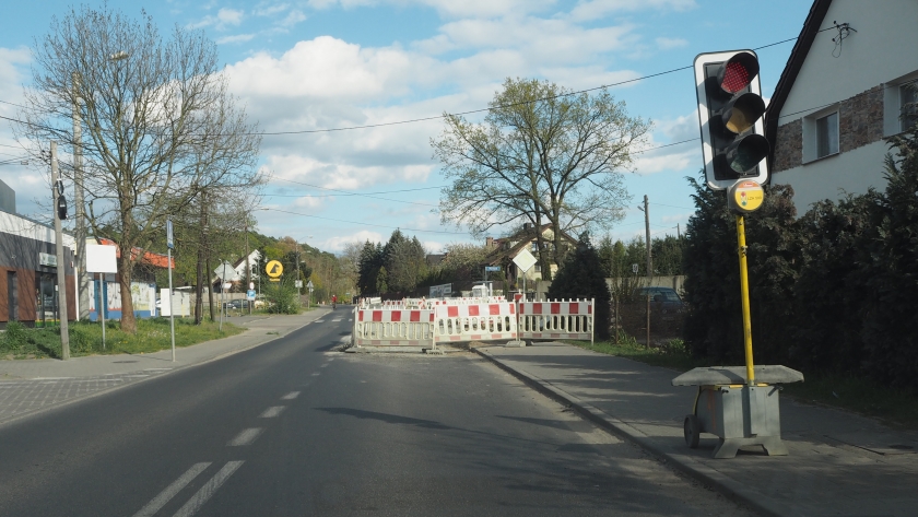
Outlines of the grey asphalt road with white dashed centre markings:
{"label": "grey asphalt road with white dashed centre markings", "polygon": [[348,317],[0,427],[0,515],[750,515],[473,354],[337,352]]}

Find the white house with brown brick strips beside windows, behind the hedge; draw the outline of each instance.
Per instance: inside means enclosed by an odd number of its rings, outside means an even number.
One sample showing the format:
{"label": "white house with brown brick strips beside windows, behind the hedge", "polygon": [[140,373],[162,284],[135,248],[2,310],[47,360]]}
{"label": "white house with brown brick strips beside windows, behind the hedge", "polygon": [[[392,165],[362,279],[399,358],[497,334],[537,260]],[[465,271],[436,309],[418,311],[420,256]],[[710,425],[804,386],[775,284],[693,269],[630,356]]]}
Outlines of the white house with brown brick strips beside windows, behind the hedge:
{"label": "white house with brown brick strips beside windows, behind the hedge", "polygon": [[882,190],[885,138],[918,80],[918,2],[815,0],[765,118],[773,184],[790,185],[798,213],[844,192]]}

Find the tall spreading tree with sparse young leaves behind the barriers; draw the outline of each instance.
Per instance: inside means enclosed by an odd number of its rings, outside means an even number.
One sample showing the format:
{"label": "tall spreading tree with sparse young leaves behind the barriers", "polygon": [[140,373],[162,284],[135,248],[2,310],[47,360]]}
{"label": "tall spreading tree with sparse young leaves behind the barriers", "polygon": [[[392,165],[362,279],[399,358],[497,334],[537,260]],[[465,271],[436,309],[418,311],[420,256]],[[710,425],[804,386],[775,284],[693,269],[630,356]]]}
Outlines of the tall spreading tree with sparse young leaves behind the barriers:
{"label": "tall spreading tree with sparse young leaves behind the barriers", "polygon": [[[608,226],[628,199],[623,172],[650,124],[629,117],[602,89],[573,94],[546,81],[507,79],[482,124],[446,114],[432,140],[452,185],[440,196],[444,223],[481,234],[520,220],[553,230],[552,261],[563,259],[562,232]],[[545,268],[542,232],[536,232]]]}

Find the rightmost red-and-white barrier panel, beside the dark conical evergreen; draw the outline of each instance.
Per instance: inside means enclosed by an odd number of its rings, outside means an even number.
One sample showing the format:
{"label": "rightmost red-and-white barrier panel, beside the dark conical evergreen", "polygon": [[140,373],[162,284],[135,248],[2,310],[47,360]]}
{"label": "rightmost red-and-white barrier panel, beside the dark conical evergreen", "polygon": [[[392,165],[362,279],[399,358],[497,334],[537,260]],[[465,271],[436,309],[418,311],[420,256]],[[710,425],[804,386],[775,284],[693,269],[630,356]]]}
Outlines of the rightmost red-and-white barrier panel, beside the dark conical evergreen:
{"label": "rightmost red-and-white barrier panel, beside the dark conical evergreen", "polygon": [[520,302],[519,339],[593,341],[593,301]]}

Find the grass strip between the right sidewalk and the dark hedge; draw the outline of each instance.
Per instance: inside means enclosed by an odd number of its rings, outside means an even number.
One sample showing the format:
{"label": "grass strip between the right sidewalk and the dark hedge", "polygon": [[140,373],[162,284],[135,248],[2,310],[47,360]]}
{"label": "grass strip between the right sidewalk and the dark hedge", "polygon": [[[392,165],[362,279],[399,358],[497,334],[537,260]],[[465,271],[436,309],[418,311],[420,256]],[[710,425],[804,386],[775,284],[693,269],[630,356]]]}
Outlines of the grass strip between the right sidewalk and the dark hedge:
{"label": "grass strip between the right sidewalk and the dark hedge", "polygon": [[[687,372],[699,366],[711,365],[709,360],[693,357],[682,340],[670,340],[658,349],[647,349],[631,337],[609,341],[567,341],[567,343],[602,354],[617,355],[654,366],[676,372]],[[785,385],[784,395],[800,402],[828,406],[861,415],[872,416],[893,427],[918,431],[918,396],[870,379],[850,375],[808,375],[803,383]]]}

